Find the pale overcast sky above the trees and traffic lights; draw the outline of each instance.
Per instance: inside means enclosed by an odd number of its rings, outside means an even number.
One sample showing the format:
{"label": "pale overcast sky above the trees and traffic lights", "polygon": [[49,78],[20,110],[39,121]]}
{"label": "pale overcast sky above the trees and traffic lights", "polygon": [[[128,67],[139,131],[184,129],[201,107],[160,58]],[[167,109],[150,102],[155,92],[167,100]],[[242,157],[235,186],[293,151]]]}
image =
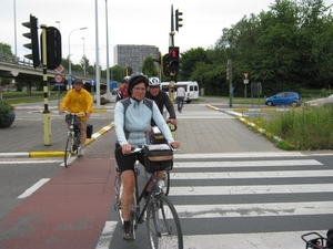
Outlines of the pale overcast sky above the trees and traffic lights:
{"label": "pale overcast sky above the trees and traffic lights", "polygon": [[[333,0],[325,2],[331,4]],[[208,49],[214,45],[223,28],[231,28],[244,15],[268,11],[272,3],[274,0],[108,0],[109,65],[114,64],[113,48],[117,44],[155,45],[162,54],[167,53],[172,4],[173,10],[179,9],[183,12],[183,27],[174,35],[174,44],[183,52],[192,48]],[[21,23],[28,22],[31,13],[38,18],[39,25],[47,24],[60,29],[62,58],[69,54],[70,40],[72,62],[78,64],[84,52],[90,64],[93,64],[97,61],[98,12],[99,58],[102,69],[105,69],[107,4],[105,0],[0,0],[0,42],[10,44],[14,53],[17,31],[17,55],[22,59],[29,53],[29,50],[23,48],[29,40],[22,37],[28,29]],[[88,29],[79,30],[84,27]]]}

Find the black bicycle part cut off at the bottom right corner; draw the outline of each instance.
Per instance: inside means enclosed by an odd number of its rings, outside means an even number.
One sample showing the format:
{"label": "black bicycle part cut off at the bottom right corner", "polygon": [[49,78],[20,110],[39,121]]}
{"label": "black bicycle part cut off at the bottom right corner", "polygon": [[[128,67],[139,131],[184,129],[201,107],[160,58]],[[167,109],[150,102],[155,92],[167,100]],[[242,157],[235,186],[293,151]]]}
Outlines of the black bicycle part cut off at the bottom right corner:
{"label": "black bicycle part cut off at the bottom right corner", "polygon": [[333,229],[327,230],[326,238],[312,231],[301,236],[306,243],[305,249],[333,249]]}

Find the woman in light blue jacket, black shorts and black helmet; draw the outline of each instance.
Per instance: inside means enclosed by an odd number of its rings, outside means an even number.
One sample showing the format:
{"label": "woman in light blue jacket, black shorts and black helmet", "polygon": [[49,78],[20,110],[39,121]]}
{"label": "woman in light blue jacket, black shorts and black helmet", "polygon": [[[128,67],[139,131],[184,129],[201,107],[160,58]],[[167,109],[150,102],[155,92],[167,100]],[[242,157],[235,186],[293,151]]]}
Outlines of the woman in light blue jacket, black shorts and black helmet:
{"label": "woman in light blue jacket, black shorts and black helmet", "polygon": [[[119,101],[114,107],[114,128],[115,128],[115,160],[121,173],[123,191],[121,196],[122,218],[124,220],[123,239],[133,240],[131,231],[130,216],[134,178],[134,154],[132,147],[140,147],[147,144],[147,132],[150,128],[151,118],[161,129],[168,143],[173,147],[179,147],[179,142],[174,141],[168,124],[160,113],[157,104],[145,98],[149,80],[145,75],[137,74],[129,79],[128,92],[130,97]],[[139,162],[144,165],[143,154],[139,154]]]}

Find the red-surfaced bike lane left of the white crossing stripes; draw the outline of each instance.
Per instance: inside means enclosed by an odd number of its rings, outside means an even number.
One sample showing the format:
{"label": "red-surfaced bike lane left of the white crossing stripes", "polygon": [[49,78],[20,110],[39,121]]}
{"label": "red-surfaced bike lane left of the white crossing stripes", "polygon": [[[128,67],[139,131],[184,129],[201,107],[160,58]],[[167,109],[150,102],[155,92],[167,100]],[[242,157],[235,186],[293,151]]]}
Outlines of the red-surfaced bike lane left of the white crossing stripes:
{"label": "red-surfaced bike lane left of the white crossing stripes", "polygon": [[114,159],[77,159],[0,225],[1,249],[91,249],[114,199]]}

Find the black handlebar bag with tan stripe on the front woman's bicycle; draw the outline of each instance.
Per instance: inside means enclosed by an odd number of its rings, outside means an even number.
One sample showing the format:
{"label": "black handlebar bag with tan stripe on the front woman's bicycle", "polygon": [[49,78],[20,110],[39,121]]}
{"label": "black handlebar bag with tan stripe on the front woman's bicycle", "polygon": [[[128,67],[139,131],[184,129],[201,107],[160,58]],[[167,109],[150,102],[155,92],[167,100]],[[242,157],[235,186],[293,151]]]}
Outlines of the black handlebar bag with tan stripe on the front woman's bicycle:
{"label": "black handlebar bag with tan stripe on the front woman's bicycle", "polygon": [[173,151],[168,144],[144,145],[144,168],[148,173],[171,170]]}

